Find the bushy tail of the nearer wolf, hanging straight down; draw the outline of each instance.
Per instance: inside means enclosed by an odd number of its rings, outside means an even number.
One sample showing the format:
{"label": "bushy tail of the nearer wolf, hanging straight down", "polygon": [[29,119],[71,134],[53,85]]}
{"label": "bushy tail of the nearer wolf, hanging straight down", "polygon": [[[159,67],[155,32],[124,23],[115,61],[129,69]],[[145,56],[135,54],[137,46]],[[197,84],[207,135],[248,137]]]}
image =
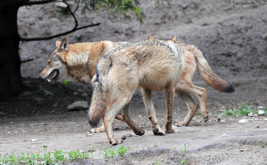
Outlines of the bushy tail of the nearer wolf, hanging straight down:
{"label": "bushy tail of the nearer wolf, hanging straight down", "polygon": [[[88,112],[88,121],[92,127],[96,127],[100,119],[107,111],[107,103],[109,100],[109,92],[105,85],[105,77],[110,67],[110,61],[101,59],[104,61],[102,64],[97,64],[96,74],[92,78],[93,95],[91,100],[91,106]],[[103,70],[103,71],[102,71]]]}

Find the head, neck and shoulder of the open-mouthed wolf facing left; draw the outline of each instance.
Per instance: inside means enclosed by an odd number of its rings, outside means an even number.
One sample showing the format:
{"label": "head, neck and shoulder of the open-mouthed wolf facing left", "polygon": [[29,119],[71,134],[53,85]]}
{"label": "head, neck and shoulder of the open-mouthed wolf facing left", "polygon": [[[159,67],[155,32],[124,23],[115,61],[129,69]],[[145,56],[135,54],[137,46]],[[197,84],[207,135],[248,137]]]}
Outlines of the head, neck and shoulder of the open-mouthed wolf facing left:
{"label": "head, neck and shoulder of the open-mouthed wolf facing left", "polygon": [[[65,44],[65,47],[64,47]],[[48,58],[48,65],[39,78],[47,79],[55,69],[59,70],[60,78],[69,78],[75,82],[90,83],[95,74],[96,64],[107,50],[117,43],[111,41],[85,42],[69,44],[67,39],[56,41],[56,49]]]}

